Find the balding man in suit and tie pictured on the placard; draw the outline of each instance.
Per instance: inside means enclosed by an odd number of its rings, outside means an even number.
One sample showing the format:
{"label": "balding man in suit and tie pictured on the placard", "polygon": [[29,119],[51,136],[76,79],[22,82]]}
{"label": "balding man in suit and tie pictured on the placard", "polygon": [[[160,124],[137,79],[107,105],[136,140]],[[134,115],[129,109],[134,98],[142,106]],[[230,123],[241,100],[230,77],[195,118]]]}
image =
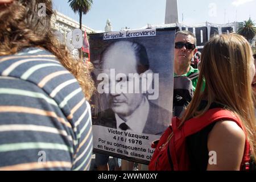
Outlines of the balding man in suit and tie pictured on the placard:
{"label": "balding man in suit and tie pictured on the placard", "polygon": [[[146,48],[134,41],[121,40],[110,44],[100,58],[102,71],[106,73],[102,86],[109,109],[98,114],[94,125],[152,135],[166,130],[170,111],[154,104],[146,96],[152,81],[155,81],[151,90],[154,90],[155,98],[159,97],[159,77],[150,69]],[[135,85],[136,81],[138,85]],[[130,90],[129,85],[133,85]]]}

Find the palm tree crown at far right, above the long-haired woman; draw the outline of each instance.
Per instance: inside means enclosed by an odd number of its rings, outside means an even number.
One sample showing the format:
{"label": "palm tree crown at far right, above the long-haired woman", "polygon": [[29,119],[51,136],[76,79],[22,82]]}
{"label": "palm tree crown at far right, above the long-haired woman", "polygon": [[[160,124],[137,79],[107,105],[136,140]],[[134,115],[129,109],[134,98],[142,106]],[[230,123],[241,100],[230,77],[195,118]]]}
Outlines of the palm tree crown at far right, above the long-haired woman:
{"label": "palm tree crown at far right, above the long-haired woman", "polygon": [[237,33],[244,36],[251,43],[256,35],[256,27],[253,20],[249,18],[249,20],[242,22]]}

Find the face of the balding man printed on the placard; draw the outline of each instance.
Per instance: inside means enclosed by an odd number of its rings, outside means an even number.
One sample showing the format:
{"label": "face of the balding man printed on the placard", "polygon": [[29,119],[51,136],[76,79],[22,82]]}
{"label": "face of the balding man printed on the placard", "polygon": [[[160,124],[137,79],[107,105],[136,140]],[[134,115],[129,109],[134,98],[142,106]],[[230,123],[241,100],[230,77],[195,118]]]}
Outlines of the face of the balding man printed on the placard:
{"label": "face of the balding man printed on the placard", "polygon": [[[137,60],[135,52],[130,44],[115,44],[108,52],[105,53],[103,60],[103,69],[109,76],[109,87],[117,84],[127,86],[129,82],[133,82],[133,77],[129,73],[137,73]],[[110,69],[115,70],[115,77],[110,76]],[[118,73],[123,73],[126,78],[117,76]],[[141,80],[141,79],[140,79]],[[125,88],[125,90],[127,90]],[[143,99],[143,94],[140,93],[107,93],[108,103],[114,113],[119,117],[127,117],[138,108]]]}

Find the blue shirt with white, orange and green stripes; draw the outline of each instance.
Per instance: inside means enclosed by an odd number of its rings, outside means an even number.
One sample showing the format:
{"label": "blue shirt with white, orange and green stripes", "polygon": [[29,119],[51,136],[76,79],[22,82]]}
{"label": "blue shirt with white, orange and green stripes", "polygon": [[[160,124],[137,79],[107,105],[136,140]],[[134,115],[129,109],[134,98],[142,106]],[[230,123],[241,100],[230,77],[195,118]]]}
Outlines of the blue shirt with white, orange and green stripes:
{"label": "blue shirt with white, orange and green stripes", "polygon": [[52,53],[0,56],[0,171],[89,170],[90,106]]}

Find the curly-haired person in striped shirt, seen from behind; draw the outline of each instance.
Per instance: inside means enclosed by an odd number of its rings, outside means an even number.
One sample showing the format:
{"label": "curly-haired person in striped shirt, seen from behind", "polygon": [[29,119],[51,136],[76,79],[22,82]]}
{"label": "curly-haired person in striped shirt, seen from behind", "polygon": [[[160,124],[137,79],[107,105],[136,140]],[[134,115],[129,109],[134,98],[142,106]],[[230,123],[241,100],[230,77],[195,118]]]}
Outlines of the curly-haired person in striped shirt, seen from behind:
{"label": "curly-haired person in striped shirt, seen from behind", "polygon": [[94,87],[88,64],[55,39],[52,14],[49,0],[0,0],[0,170],[90,167]]}

